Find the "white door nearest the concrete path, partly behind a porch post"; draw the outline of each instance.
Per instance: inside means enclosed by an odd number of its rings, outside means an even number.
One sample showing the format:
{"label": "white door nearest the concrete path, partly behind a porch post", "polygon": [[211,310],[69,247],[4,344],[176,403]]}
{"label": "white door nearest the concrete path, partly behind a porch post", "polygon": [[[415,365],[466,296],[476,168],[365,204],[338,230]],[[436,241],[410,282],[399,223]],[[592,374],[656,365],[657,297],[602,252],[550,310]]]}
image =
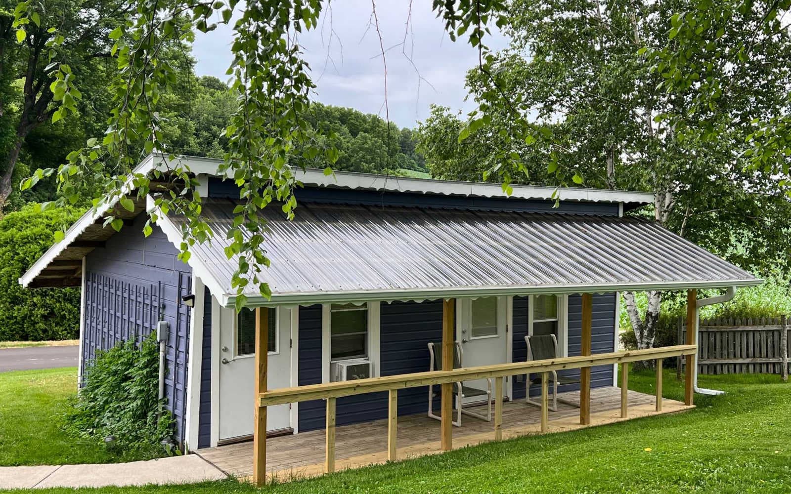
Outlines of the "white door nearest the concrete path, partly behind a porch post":
{"label": "white door nearest the concrete path, partly behind a porch post", "polygon": [[[252,435],[255,407],[254,311],[221,308],[219,440]],[[270,325],[267,387],[291,386],[291,310],[269,310]],[[252,326],[252,327],[251,327]],[[274,338],[272,338],[274,337]],[[267,432],[291,427],[289,405],[267,408]]]}

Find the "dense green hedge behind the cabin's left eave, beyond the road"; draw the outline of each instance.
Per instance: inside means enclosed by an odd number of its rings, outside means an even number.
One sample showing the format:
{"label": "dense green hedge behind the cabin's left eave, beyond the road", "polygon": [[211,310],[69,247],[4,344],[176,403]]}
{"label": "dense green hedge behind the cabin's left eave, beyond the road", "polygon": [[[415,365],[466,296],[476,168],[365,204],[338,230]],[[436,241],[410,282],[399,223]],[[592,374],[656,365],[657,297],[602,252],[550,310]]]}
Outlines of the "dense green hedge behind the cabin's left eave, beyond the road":
{"label": "dense green hedge behind the cabin's left eave, beyond the road", "polygon": [[53,233],[78,212],[36,213],[33,206],[0,220],[0,341],[78,338],[79,288],[22,288],[19,277],[50,247]]}

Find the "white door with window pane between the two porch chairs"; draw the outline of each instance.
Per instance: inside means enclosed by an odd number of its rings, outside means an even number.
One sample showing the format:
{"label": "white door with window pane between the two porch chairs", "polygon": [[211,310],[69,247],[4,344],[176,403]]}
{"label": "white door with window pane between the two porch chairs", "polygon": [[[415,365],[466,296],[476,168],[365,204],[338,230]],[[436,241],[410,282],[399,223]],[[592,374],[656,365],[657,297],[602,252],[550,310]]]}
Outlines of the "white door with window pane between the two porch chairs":
{"label": "white door with window pane between the two porch chairs", "polygon": [[[461,341],[464,367],[505,364],[508,362],[507,297],[459,299],[456,304],[456,339]],[[466,386],[486,389],[486,379],[467,381]],[[508,386],[503,394],[508,394]],[[494,396],[494,379],[492,379]],[[481,397],[465,398],[464,402],[480,402]],[[486,398],[483,398],[486,401]]]}

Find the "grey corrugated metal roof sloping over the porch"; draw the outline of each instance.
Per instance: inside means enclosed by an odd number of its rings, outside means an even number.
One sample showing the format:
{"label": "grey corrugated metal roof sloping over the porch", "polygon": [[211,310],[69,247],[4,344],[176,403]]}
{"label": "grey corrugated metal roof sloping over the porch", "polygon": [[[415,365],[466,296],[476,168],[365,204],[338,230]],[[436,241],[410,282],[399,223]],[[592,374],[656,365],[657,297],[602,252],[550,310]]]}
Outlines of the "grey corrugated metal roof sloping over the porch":
{"label": "grey corrugated metal roof sloping over the porch", "polygon": [[[225,256],[237,202],[209,199],[210,243],[191,248],[196,274],[232,304]],[[630,217],[301,202],[293,221],[263,210],[271,304],[421,300],[538,292],[608,292],[758,285],[658,224]],[[174,230],[180,218],[168,219]],[[191,262],[192,263],[192,262]],[[193,265],[195,266],[195,265]],[[251,304],[266,304],[249,287]]]}

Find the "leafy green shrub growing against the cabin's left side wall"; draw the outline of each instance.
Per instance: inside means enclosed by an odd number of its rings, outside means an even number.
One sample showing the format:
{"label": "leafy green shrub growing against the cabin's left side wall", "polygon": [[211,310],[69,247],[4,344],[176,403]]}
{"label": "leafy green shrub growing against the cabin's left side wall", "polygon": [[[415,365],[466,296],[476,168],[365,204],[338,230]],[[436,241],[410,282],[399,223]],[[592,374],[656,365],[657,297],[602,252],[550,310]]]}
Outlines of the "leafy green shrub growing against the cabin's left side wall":
{"label": "leafy green shrub growing against the cabin's left side wall", "polygon": [[84,379],[85,386],[63,414],[66,432],[103,443],[121,458],[172,454],[174,420],[157,396],[155,334],[139,347],[130,340],[99,352]]}

